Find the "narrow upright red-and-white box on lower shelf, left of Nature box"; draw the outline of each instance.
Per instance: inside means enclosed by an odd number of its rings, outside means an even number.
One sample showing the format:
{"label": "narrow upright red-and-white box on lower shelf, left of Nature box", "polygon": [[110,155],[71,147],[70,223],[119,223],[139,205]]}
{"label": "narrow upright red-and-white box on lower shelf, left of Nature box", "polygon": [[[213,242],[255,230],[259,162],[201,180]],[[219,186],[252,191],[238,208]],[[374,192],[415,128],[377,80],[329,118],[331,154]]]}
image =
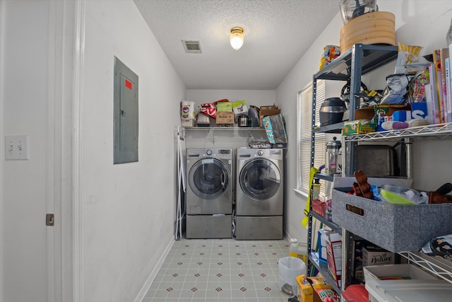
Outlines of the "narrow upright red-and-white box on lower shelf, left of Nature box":
{"label": "narrow upright red-and-white box on lower shelf, left of Nature box", "polygon": [[328,272],[340,287],[342,277],[342,240],[336,232],[328,233],[326,240],[326,257],[328,260]]}

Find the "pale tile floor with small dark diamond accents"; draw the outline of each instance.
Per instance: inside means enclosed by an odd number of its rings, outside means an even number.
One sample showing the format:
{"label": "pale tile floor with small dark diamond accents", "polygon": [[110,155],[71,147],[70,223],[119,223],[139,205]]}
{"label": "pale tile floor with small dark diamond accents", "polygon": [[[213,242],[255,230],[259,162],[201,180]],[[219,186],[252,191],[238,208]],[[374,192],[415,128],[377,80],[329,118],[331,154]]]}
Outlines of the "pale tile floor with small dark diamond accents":
{"label": "pale tile floor with small dark diamond accents", "polygon": [[184,239],[170,250],[143,302],[283,302],[278,259],[287,240]]}

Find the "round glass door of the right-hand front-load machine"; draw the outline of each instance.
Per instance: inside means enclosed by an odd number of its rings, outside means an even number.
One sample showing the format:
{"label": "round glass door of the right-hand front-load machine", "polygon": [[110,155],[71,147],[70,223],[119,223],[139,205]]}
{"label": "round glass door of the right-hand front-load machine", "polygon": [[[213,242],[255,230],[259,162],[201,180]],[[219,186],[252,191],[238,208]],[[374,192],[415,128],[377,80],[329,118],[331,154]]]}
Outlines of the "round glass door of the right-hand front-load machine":
{"label": "round glass door of the right-hand front-load machine", "polygon": [[256,158],[246,163],[240,171],[242,191],[251,199],[266,200],[273,197],[280,187],[278,167],[266,158]]}

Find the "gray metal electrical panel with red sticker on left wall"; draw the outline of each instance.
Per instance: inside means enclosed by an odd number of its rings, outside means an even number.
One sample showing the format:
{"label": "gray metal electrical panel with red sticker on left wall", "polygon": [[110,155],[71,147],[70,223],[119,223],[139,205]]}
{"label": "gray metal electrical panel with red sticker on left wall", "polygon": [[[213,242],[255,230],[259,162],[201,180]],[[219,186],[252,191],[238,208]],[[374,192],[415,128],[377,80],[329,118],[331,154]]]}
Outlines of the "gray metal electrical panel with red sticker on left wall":
{"label": "gray metal electrical panel with red sticker on left wall", "polygon": [[113,163],[138,161],[138,76],[114,57]]}

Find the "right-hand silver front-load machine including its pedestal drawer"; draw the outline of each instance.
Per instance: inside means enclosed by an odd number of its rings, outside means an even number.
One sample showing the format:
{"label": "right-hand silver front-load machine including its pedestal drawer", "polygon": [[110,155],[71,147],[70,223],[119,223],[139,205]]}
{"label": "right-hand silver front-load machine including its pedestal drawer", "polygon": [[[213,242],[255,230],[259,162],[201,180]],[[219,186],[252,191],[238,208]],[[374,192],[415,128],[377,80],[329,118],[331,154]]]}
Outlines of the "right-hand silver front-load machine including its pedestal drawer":
{"label": "right-hand silver front-load machine including its pedestal drawer", "polygon": [[283,166],[283,149],[237,149],[237,240],[283,238]]}

